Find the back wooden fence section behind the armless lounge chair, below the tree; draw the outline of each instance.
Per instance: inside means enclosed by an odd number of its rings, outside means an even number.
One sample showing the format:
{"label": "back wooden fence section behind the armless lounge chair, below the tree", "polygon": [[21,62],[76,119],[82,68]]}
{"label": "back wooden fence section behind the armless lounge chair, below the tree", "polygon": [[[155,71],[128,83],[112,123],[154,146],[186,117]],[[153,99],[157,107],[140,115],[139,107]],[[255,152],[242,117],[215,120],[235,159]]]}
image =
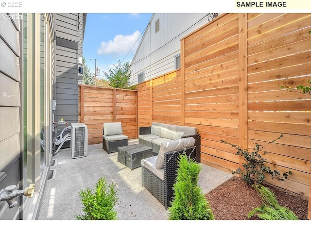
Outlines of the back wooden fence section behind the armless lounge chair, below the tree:
{"label": "back wooden fence section behind the armless lounge chair, below the tree", "polygon": [[79,85],[78,120],[88,129],[88,144],[103,142],[103,123],[122,122],[123,134],[137,138],[137,90]]}

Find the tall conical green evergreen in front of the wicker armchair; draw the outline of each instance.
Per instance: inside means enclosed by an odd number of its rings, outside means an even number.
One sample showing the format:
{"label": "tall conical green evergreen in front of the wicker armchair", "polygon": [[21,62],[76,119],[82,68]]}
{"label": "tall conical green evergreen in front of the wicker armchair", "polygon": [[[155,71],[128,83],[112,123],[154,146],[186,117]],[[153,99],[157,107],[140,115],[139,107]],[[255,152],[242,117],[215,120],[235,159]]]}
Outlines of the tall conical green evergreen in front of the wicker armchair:
{"label": "tall conical green evergreen in front of the wicker armchair", "polygon": [[180,155],[173,200],[168,208],[170,220],[214,219],[209,202],[197,185],[201,169],[185,152]]}

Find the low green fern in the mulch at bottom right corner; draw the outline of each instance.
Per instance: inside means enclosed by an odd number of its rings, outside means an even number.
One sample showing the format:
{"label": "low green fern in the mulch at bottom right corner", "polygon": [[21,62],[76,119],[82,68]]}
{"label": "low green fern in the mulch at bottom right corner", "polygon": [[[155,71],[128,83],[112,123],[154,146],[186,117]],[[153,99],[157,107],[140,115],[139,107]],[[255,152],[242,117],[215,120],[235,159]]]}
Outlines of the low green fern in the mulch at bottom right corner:
{"label": "low green fern in the mulch at bottom right corner", "polygon": [[257,215],[262,220],[298,220],[298,216],[289,208],[280,206],[276,195],[262,185],[253,185],[262,198],[262,204],[248,213],[247,217]]}

